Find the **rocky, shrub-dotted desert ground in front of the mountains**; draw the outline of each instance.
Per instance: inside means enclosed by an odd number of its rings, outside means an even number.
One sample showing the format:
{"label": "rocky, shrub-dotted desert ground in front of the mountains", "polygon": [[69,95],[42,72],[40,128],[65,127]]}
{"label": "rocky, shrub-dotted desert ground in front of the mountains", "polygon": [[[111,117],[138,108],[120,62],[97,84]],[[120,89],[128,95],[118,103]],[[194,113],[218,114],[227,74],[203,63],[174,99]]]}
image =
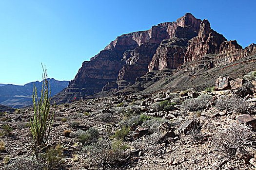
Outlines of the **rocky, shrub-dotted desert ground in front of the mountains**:
{"label": "rocky, shrub-dotted desert ground in front of the mountains", "polygon": [[[166,90],[57,105],[47,148],[61,152],[58,161],[47,159],[54,162],[48,169],[256,169],[255,114],[256,81],[223,76],[200,92]],[[3,170],[32,159],[32,118],[31,108],[1,113]]]}

